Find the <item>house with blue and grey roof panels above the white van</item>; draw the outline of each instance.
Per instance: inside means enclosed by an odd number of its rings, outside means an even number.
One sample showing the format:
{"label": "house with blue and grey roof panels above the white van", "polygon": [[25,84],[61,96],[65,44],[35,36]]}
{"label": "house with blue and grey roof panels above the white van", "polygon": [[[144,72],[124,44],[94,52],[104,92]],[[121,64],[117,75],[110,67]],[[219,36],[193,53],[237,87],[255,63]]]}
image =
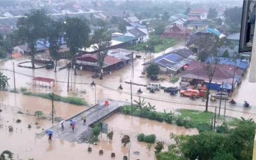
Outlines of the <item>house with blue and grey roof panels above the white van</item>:
{"label": "house with blue and grey roof panels above the white van", "polygon": [[148,61],[143,65],[143,71],[146,71],[146,68],[152,64],[156,63],[160,68],[160,73],[163,74],[176,74],[183,69],[183,66],[190,64],[191,60],[183,58],[182,56],[176,53],[168,53],[161,55],[157,58],[154,58],[151,61]]}

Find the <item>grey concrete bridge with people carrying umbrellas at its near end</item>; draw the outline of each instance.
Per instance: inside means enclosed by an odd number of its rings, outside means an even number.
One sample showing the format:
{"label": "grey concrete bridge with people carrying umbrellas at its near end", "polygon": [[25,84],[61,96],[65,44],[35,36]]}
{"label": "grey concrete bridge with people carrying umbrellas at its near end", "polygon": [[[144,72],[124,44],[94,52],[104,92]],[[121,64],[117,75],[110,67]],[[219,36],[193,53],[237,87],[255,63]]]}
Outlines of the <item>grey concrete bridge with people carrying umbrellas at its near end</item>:
{"label": "grey concrete bridge with people carrying umbrellas at its near end", "polygon": [[[74,116],[66,119],[63,122],[64,130],[62,131],[61,125],[55,125],[50,128],[53,131],[53,135],[55,138],[59,138],[61,140],[67,140],[69,142],[78,142],[82,143],[85,140],[88,140],[91,127],[90,125],[99,122],[113,115],[118,109],[123,105],[130,105],[128,102],[116,101],[108,99],[109,105],[105,105],[105,101],[99,101],[96,105],[77,113]],[[83,124],[82,116],[86,115],[86,124]],[[69,120],[73,119],[76,121],[74,132],[72,128],[70,128]],[[44,132],[41,133],[44,134]]]}

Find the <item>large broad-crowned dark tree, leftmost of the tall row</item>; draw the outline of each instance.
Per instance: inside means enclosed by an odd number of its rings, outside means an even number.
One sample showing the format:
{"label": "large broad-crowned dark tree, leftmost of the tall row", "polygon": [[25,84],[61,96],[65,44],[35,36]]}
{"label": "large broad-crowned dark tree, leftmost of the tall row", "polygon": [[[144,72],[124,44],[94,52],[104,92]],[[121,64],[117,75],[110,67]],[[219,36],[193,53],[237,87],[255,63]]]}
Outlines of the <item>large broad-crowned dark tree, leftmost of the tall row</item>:
{"label": "large broad-crowned dark tree, leftmost of the tall row", "polygon": [[49,17],[44,9],[32,10],[26,16],[18,19],[17,32],[18,37],[28,44],[32,68],[35,68],[36,42],[40,38],[47,38],[47,21]]}

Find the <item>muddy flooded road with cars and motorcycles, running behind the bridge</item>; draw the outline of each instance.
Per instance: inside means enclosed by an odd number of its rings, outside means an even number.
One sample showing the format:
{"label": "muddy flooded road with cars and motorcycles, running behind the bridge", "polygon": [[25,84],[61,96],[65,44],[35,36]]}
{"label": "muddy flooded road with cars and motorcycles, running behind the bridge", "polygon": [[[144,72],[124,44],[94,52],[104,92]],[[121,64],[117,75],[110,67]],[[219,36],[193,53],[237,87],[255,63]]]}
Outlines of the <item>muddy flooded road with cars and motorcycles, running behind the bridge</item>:
{"label": "muddy flooded road with cars and motorcycles, running behind the bridge", "polygon": [[[169,49],[166,49],[166,52],[182,48],[183,43],[175,45],[174,47],[171,47]],[[151,58],[155,58],[159,55],[161,55],[163,52],[160,53],[152,53]],[[145,53],[139,53],[142,55],[141,59],[137,59],[134,61],[134,78],[132,78],[132,72],[131,72],[131,65],[128,65],[120,70],[116,70],[112,73],[112,75],[105,75],[103,77],[103,80],[99,79],[92,79],[91,76],[93,75],[92,72],[89,71],[81,71],[77,70],[77,75],[74,76],[73,72],[70,77],[70,82],[72,81],[72,85],[70,84],[70,90],[67,92],[67,79],[68,79],[68,71],[67,69],[59,70],[57,73],[53,72],[53,70],[46,70],[45,68],[41,69],[28,69],[28,68],[21,68],[17,67],[17,64],[22,61],[28,61],[28,56],[22,56],[20,58],[16,58],[15,60],[9,60],[9,61],[2,61],[0,62],[0,69],[8,69],[12,70],[12,61],[15,62],[15,74],[16,77],[16,88],[20,87],[26,87],[31,92],[40,92],[40,93],[49,93],[54,92],[57,95],[60,96],[79,96],[85,99],[86,102],[88,102],[88,105],[95,104],[98,100],[101,99],[115,99],[115,100],[123,100],[131,102],[131,86],[130,84],[125,83],[124,81],[133,81],[134,83],[138,84],[148,84],[152,82],[151,80],[146,78],[146,75],[142,74],[143,71],[143,64],[144,59],[143,57],[146,57],[145,61],[149,61],[150,54]],[[5,75],[7,75],[9,80],[10,88],[14,88],[13,83],[13,73],[6,70],[0,70]],[[25,75],[24,75],[25,74]],[[38,87],[38,85],[35,85],[32,81],[31,76],[42,76],[47,78],[55,79],[55,87],[52,89],[48,88],[41,88]],[[169,87],[169,86],[178,86],[178,83],[172,84],[169,82],[169,77],[165,75],[161,75],[160,77],[165,78],[163,81],[153,81],[158,82],[162,86]],[[123,78],[124,80],[120,82],[120,78]],[[90,83],[92,81],[96,82],[96,91],[95,86],[91,86]],[[123,90],[118,90],[117,87],[119,84],[122,84]],[[143,94],[138,94],[137,90],[141,88],[143,91]],[[240,117],[244,116],[245,118],[248,117],[254,117],[256,116],[256,101],[255,101],[255,90],[256,86],[255,84],[251,84],[245,79],[242,81],[241,88],[238,90],[238,93],[235,95],[235,99],[238,102],[235,106],[230,106],[228,103],[226,104],[226,115],[228,116],[235,116]],[[250,93],[254,93],[250,94]],[[180,97],[179,95],[176,96],[170,96],[168,93],[163,93],[163,90],[157,91],[156,93],[149,93],[148,90],[146,90],[145,87],[132,85],[132,94],[133,99],[138,99],[139,96],[145,97],[147,102],[151,102],[151,104],[156,105],[157,111],[163,111],[163,109],[166,110],[172,110],[175,111],[179,108],[187,108],[187,109],[197,109],[204,111],[205,110],[205,102],[202,102],[201,99],[197,99],[195,101],[192,101],[191,99],[187,97]],[[244,100],[247,100],[252,107],[251,108],[243,108],[242,103]],[[217,102],[210,102],[209,103],[209,111],[214,111],[215,105],[219,105],[219,101]],[[224,102],[221,105],[221,114],[224,114]]]}

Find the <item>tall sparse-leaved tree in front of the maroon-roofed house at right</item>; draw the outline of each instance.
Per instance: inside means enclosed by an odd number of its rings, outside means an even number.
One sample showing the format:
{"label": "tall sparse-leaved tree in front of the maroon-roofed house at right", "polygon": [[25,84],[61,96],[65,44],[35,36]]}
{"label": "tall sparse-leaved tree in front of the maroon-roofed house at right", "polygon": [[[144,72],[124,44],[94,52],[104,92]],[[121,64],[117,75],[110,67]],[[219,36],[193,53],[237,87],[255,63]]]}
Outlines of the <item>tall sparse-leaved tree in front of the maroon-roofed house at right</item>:
{"label": "tall sparse-leaved tree in front of the maroon-roofed house at right", "polygon": [[[201,61],[203,58],[208,58],[208,62],[204,63],[202,62],[202,67],[205,70],[205,73],[207,73],[209,85],[207,87],[207,96],[206,96],[206,107],[205,111],[208,111],[208,102],[209,102],[209,90],[211,87],[212,78],[214,76],[214,73],[216,69],[218,68],[218,63],[220,61],[220,55],[221,55],[221,48],[223,47],[230,47],[233,48],[233,45],[230,43],[229,40],[225,38],[218,38],[216,36],[212,35],[205,35],[204,37],[201,37],[198,39],[198,41],[195,42],[195,45],[198,47],[198,55]],[[204,57],[202,58],[202,53]]]}

